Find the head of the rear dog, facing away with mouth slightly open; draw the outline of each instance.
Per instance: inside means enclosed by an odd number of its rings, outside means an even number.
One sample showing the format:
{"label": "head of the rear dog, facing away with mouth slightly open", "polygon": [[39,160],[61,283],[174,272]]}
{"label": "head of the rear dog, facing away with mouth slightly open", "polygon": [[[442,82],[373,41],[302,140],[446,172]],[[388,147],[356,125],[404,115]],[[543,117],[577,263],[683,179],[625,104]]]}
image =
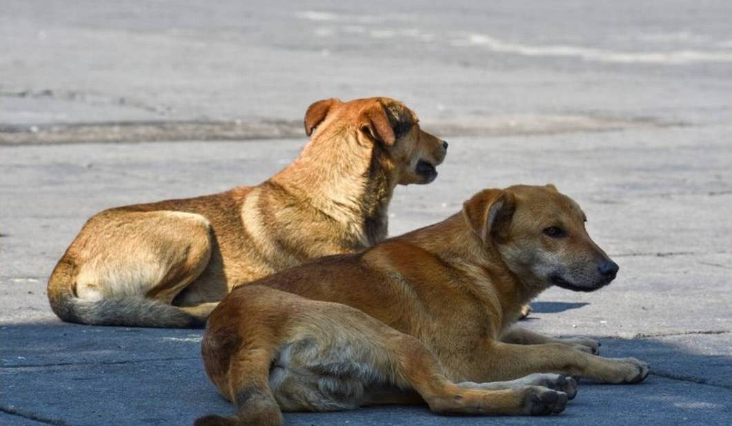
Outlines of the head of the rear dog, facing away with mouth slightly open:
{"label": "head of the rear dog, facing away with mouth slightly open", "polygon": [[447,142],[420,129],[417,114],[387,97],[315,102],[305,113],[305,133],[313,139],[355,134],[397,184],[432,182],[447,153]]}

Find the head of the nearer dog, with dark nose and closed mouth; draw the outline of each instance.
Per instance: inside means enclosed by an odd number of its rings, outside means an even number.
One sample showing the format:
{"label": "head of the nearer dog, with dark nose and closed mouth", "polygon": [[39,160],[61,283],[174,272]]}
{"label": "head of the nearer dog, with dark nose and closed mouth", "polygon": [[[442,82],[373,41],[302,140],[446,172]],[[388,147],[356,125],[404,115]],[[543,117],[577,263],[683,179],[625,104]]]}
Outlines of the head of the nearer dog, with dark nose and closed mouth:
{"label": "head of the nearer dog, with dark nose and closed mouth", "polygon": [[580,206],[551,184],[483,190],[466,201],[463,213],[482,242],[536,291],[550,285],[594,291],[618,272],[587,234]]}

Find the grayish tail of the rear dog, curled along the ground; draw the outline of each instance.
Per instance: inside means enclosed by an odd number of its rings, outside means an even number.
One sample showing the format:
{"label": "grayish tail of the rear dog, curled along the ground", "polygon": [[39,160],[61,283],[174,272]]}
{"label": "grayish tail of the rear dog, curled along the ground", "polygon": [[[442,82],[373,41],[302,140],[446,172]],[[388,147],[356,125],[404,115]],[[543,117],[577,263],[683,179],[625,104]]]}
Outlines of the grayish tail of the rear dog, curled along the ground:
{"label": "grayish tail of the rear dog, curled along the ground", "polygon": [[143,296],[106,296],[86,300],[73,291],[74,266],[66,256],[48,280],[48,302],[62,321],[97,326],[201,327],[206,321],[179,307]]}

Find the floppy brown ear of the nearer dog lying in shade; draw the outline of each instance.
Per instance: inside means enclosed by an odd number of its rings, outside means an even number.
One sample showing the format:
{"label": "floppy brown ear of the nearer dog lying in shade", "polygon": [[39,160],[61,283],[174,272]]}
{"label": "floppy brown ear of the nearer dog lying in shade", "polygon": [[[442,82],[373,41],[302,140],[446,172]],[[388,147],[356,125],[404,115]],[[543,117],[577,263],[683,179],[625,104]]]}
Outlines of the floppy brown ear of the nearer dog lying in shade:
{"label": "floppy brown ear of the nearer dog lying in shade", "polygon": [[504,190],[482,190],[463,203],[463,215],[484,243],[508,238],[509,225],[516,209],[516,197]]}

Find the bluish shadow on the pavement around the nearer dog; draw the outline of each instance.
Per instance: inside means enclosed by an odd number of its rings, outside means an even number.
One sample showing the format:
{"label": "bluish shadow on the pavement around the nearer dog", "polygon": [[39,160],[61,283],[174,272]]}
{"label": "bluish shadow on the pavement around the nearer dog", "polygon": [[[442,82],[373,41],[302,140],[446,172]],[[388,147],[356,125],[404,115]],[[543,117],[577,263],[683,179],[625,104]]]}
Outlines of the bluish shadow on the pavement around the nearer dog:
{"label": "bluish shadow on the pavement around the nearer dog", "polygon": [[[115,419],[116,425],[187,425],[203,414],[230,413],[231,406],[217,395],[203,372],[199,356],[202,333],[60,322],[2,326],[0,409],[4,424],[35,424],[29,423],[34,419],[81,426]],[[729,345],[729,335],[713,337],[710,342],[720,345],[720,351]],[[703,418],[706,425],[725,424],[732,400],[732,359],[695,353],[683,341],[662,339],[600,338],[605,356],[635,356],[651,363],[653,374],[643,384],[586,384],[560,416],[475,417],[469,424],[602,425],[605,420],[627,424],[647,419],[650,424],[670,425],[684,418]],[[288,425],[468,422],[465,417],[435,416],[421,406],[287,414],[285,418]]]}

